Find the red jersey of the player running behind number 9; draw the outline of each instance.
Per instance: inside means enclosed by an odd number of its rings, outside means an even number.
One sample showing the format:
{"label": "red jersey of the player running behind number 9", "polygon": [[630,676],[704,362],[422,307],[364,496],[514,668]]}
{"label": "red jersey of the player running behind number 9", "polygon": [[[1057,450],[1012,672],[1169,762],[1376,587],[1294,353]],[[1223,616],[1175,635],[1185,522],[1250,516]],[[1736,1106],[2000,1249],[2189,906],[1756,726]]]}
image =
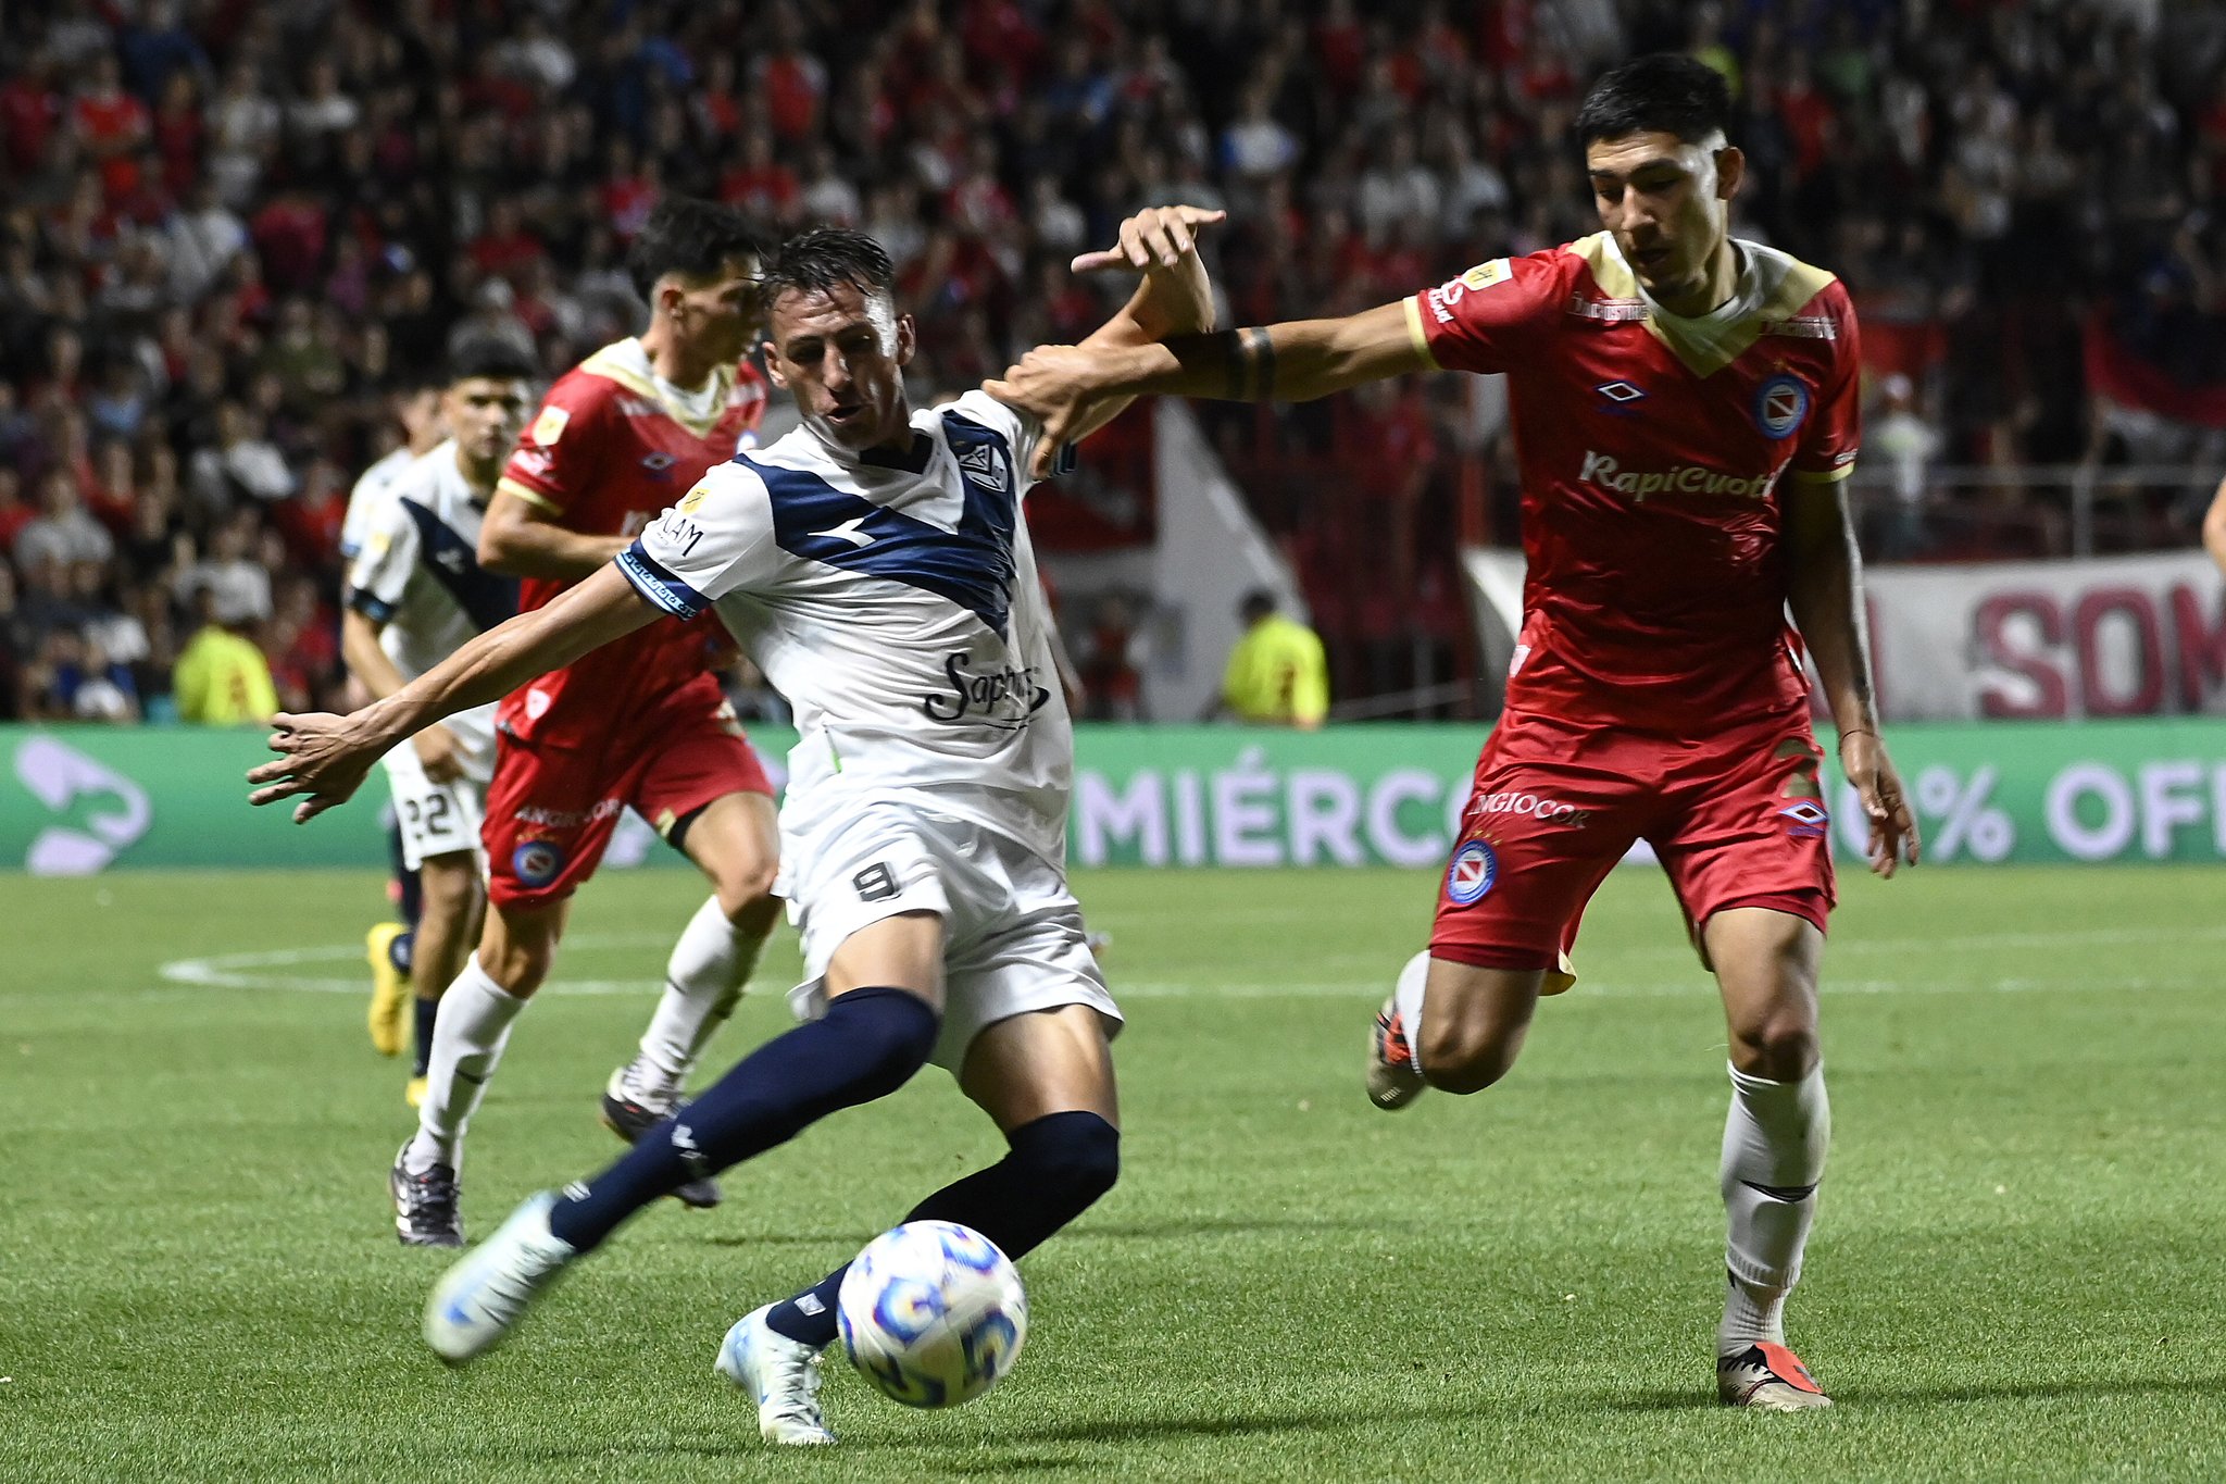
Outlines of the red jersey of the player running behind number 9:
{"label": "red jersey of the player running behind number 9", "polygon": [[[766,383],[726,367],[701,392],[663,383],[641,340],[605,345],[556,378],[496,485],[592,536],[632,536],[688,494],[703,472],[757,447]],[[534,610],[577,578],[530,576]],[[706,674],[719,636],[659,619],[510,694],[496,723],[521,741],[585,743],[623,714]]]}

